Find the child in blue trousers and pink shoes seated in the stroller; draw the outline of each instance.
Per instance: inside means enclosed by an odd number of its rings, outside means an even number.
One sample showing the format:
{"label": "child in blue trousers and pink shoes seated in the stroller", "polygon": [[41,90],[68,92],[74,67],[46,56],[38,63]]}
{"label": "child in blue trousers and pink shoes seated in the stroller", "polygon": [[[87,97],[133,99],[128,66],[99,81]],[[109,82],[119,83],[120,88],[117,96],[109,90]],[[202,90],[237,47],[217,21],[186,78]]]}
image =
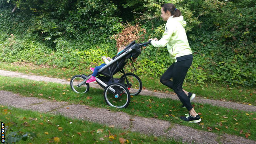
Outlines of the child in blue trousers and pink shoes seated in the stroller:
{"label": "child in blue trousers and pink shoes seated in the stroller", "polygon": [[[121,53],[123,51],[123,49],[125,48],[125,46],[121,46],[118,49],[117,55],[119,53]],[[96,82],[96,75],[98,75],[98,70],[100,70],[103,66],[107,65],[108,63],[110,63],[113,59],[111,59],[110,57],[106,57],[105,55],[103,57],[101,57],[102,60],[104,60],[105,64],[101,64],[100,66],[96,66],[95,68],[90,68],[90,70],[93,72],[91,75],[91,78],[89,78],[89,80],[86,81],[87,84],[89,83],[94,83]]]}

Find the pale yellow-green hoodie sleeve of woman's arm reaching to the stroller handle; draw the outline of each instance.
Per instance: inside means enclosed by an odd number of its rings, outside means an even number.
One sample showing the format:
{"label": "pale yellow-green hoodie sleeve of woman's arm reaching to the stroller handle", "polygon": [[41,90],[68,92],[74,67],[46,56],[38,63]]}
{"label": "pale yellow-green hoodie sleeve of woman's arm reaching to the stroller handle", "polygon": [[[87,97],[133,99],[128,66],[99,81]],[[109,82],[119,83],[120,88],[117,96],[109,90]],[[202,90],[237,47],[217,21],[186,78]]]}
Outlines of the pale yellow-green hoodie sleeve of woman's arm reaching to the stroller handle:
{"label": "pale yellow-green hoodie sleeve of woman's arm reaching to the stroller handle", "polygon": [[169,25],[166,25],[165,26],[165,32],[162,35],[162,39],[160,39],[159,41],[152,40],[151,44],[154,47],[157,47],[157,48],[165,47],[167,45],[167,43],[170,41],[171,35],[173,34],[173,32],[174,32],[173,27],[171,27]]}

